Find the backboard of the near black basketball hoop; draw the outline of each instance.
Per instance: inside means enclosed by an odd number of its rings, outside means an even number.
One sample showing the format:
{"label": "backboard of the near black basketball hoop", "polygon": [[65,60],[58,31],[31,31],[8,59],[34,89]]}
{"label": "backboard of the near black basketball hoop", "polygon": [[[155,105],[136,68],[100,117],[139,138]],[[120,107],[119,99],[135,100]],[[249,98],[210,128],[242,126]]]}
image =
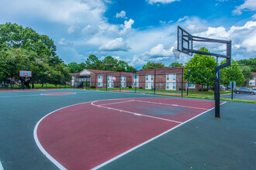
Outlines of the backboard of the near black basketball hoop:
{"label": "backboard of the near black basketball hoop", "polygon": [[188,49],[193,49],[192,35],[178,26],[178,51],[192,56],[192,52]]}

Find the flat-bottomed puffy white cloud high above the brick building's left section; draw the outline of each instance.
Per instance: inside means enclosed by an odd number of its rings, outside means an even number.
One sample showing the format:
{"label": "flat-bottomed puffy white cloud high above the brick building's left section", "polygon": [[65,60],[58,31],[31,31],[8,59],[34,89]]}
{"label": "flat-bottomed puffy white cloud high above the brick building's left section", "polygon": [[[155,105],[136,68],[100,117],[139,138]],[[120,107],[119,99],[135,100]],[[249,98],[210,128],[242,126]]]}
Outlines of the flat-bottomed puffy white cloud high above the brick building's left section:
{"label": "flat-bottomed puffy white cloud high above the brick building's left section", "polygon": [[128,46],[121,37],[106,42],[106,44],[99,47],[99,50],[103,51],[128,51],[129,49],[130,46]]}

